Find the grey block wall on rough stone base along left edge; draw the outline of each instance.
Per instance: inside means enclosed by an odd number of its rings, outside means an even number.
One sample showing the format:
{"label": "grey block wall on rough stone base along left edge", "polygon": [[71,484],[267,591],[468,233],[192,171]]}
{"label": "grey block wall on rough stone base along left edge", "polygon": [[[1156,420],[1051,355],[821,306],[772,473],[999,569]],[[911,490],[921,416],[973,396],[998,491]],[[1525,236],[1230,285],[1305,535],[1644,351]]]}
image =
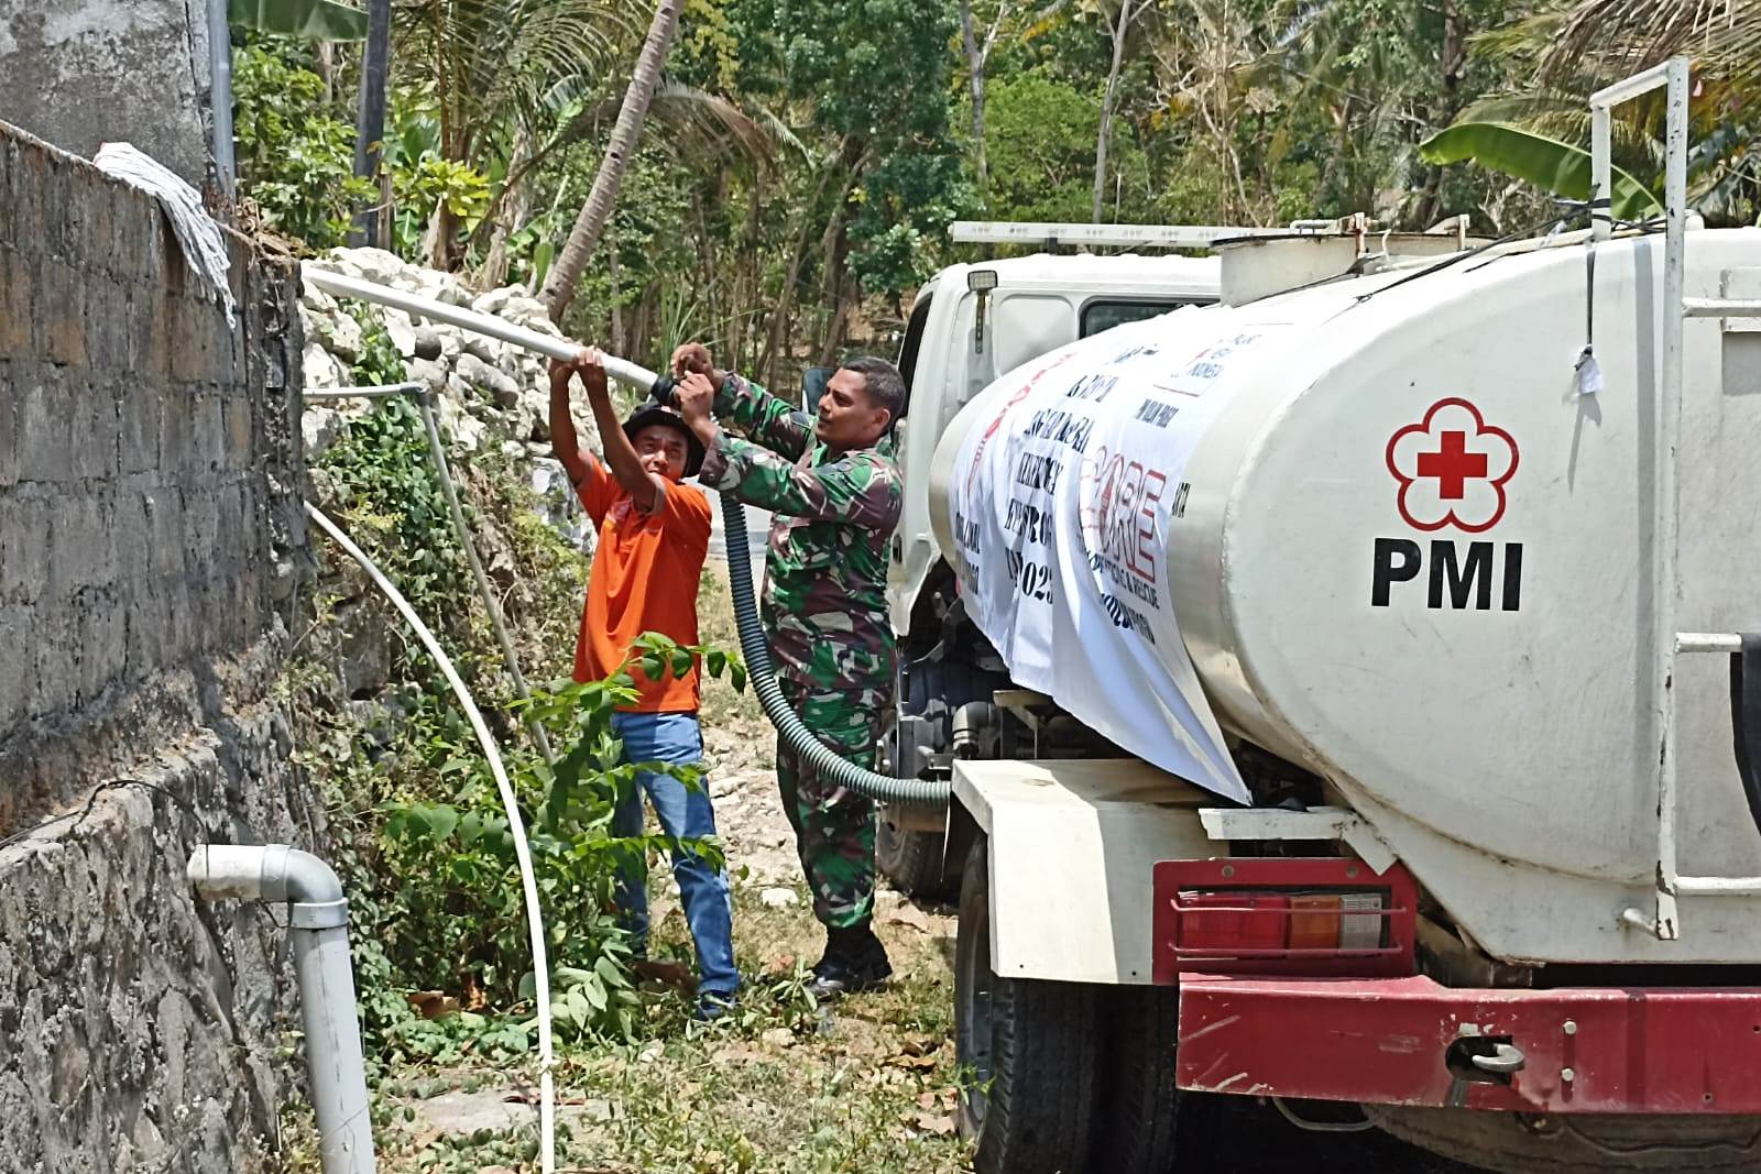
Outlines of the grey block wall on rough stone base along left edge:
{"label": "grey block wall on rough stone base along left edge", "polygon": [[273,688],[299,319],[236,238],[231,285],[229,329],[150,199],[0,125],[0,841],[69,815],[0,847],[0,1170],[273,1137],[282,935],[183,877],[201,841],[313,843]]}

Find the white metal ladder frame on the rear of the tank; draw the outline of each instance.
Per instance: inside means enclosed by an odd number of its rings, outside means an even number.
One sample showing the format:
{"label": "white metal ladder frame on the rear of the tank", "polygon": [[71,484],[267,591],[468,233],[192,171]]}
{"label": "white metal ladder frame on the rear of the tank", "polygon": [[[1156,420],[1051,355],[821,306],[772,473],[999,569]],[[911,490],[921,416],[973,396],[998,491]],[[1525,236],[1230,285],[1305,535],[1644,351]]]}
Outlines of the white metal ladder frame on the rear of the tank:
{"label": "white metal ladder frame on the rear of the tank", "polygon": [[1652,493],[1652,711],[1657,715],[1657,905],[1647,914],[1622,910],[1620,921],[1662,942],[1682,936],[1678,896],[1756,896],[1761,877],[1682,877],[1676,871],[1675,658],[1678,653],[1736,653],[1742,637],[1729,632],[1676,632],[1676,547],[1680,489],[1676,447],[1682,435],[1682,334],[1687,319],[1761,317],[1761,301],[1685,297],[1687,260],[1687,97],[1689,60],[1676,56],[1643,74],[1590,95],[1590,216],[1592,248],[1613,234],[1610,164],[1613,107],[1657,88],[1668,90],[1664,148],[1664,303],[1662,380],[1657,396],[1655,484]]}

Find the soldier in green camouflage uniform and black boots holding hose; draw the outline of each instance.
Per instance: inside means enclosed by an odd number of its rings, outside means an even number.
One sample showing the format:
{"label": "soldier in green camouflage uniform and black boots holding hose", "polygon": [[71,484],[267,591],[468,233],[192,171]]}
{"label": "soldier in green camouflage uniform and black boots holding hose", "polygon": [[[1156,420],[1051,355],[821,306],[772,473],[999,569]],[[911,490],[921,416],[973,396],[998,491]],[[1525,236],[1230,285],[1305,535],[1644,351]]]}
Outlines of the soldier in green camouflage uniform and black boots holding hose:
{"label": "soldier in green camouflage uniform and black boots holding hose", "polygon": [[[777,516],[763,620],[784,697],[826,746],[873,769],[893,704],[886,546],[903,500],[891,429],[905,382],[884,359],[852,359],[808,419],[757,384],[717,371],[699,345],[680,347],[673,370],[680,412],[706,449],[703,484]],[[715,417],[745,438],[722,431]],[[814,915],[826,926],[814,993],[835,998],[882,982],[891,966],[870,928],[873,803],[822,780],[782,739],[777,781]]]}

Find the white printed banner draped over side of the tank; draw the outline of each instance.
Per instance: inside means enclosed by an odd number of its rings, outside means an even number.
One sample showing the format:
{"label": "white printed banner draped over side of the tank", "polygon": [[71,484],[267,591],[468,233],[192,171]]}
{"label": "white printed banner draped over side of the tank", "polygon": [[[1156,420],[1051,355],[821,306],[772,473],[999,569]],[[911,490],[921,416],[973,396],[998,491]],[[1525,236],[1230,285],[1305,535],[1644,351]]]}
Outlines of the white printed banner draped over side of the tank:
{"label": "white printed banner draped over side of the tank", "polygon": [[[1182,329],[1196,313],[1217,329]],[[967,614],[1014,681],[1129,753],[1245,801],[1166,565],[1182,472],[1224,398],[1208,391],[1280,329],[1238,320],[1178,310],[1002,377],[986,394],[995,415],[960,449],[951,505]]]}

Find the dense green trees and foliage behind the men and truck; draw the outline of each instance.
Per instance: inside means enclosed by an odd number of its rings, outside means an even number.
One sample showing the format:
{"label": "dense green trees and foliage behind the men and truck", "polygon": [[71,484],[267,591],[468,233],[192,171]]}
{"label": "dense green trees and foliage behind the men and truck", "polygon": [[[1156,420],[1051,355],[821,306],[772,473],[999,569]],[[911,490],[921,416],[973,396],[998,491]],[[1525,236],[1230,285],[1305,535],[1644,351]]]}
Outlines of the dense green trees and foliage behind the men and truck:
{"label": "dense green trees and foliage behind the men and truck", "polygon": [[[701,338],[784,384],[849,347],[886,350],[902,299],[951,257],[949,220],[1088,218],[1102,104],[1108,220],[1365,211],[1423,229],[1467,213],[1507,232],[1543,222],[1548,194],[1421,144],[1460,120],[1583,143],[1590,88],[1692,48],[1685,16],[1620,0],[1139,0],[1124,19],[1120,4],[683,0],[565,329],[648,363]],[[1599,12],[1629,40],[1592,44]],[[535,287],[593,183],[645,16],[623,0],[400,5],[384,185],[349,178],[359,49],[254,33],[238,53],[245,190],[312,246],[379,192],[396,252]],[[1715,224],[1757,211],[1757,70],[1731,48],[1757,21],[1733,11],[1696,102],[1694,194]],[[1659,137],[1636,106],[1618,162],[1652,181]]]}

